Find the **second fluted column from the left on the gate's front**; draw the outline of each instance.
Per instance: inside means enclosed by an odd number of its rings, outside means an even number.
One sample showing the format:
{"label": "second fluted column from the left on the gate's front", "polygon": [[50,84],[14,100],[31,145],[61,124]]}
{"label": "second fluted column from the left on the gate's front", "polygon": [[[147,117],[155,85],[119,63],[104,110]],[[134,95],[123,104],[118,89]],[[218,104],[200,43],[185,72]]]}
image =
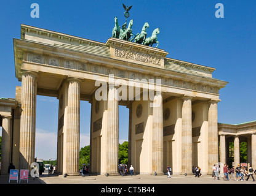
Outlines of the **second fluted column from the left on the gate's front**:
{"label": "second fluted column from the left on the gate's front", "polygon": [[80,80],[69,78],[68,82],[66,173],[68,175],[79,175]]}

